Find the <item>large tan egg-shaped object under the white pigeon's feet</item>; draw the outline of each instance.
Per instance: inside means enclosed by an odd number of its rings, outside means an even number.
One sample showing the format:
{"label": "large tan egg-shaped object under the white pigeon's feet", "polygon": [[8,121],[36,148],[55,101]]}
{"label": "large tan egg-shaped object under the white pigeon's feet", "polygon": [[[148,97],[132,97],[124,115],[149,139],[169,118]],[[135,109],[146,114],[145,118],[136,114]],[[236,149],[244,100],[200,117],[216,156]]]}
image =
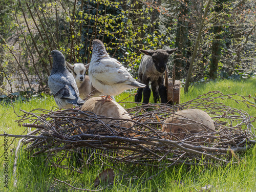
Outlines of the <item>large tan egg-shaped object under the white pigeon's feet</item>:
{"label": "large tan egg-shaped object under the white pigeon's feet", "polygon": [[[124,119],[131,119],[131,116],[122,108],[120,104],[112,100],[110,102],[102,102],[101,97],[93,97],[88,99],[83,105],[81,111],[90,111],[99,116],[121,118],[113,120],[110,118],[100,118],[104,123],[113,123],[126,128],[133,126],[133,122],[125,121]],[[83,115],[81,115],[83,117]]]}

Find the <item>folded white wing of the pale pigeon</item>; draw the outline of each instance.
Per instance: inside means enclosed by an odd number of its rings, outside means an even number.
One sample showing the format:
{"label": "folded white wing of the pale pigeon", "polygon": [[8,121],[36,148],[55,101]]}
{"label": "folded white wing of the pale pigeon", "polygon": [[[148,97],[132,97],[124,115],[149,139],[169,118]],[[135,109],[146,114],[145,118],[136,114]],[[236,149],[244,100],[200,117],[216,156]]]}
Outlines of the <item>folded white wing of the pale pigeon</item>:
{"label": "folded white wing of the pale pigeon", "polygon": [[135,81],[121,63],[113,58],[100,59],[93,66],[91,73],[102,84],[130,84]]}

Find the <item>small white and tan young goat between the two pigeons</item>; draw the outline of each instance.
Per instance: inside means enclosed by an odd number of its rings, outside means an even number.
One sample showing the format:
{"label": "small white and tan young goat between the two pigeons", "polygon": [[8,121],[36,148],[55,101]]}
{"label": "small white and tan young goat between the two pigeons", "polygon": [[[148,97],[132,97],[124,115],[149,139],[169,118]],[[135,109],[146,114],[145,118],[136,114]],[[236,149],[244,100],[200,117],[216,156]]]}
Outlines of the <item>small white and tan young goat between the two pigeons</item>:
{"label": "small white and tan young goat between the two pigeons", "polygon": [[86,70],[89,67],[89,64],[86,66],[84,66],[83,63],[75,63],[74,65],[71,65],[70,63],[66,62],[66,65],[76,80],[81,99],[87,98],[88,95],[92,95],[93,97],[102,95],[92,86],[89,76],[86,75]]}

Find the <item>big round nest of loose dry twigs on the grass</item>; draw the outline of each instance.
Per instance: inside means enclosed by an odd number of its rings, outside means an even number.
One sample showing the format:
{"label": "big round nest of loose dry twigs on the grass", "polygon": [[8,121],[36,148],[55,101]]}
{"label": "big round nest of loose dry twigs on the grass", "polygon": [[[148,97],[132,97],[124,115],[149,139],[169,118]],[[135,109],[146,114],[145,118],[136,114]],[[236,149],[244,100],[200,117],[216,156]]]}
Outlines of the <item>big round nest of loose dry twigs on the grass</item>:
{"label": "big round nest of loose dry twigs on the grass", "polygon": [[[235,99],[240,98],[240,99]],[[176,163],[211,164],[239,161],[238,152],[248,150],[256,142],[255,120],[243,110],[238,110],[221,103],[222,100],[233,100],[248,105],[244,96],[237,94],[223,95],[212,91],[196,99],[178,105],[147,104],[126,109],[131,119],[108,118],[97,116],[92,112],[80,109],[48,111],[35,109],[23,111],[18,123],[36,130],[23,136],[25,150],[34,156],[48,154],[47,157],[68,152],[81,153],[81,148],[96,149],[94,153],[116,162],[129,162],[160,166],[162,161],[166,166]],[[119,102],[123,104],[125,102]],[[248,107],[255,108],[254,105]],[[200,109],[214,120],[216,131],[198,133],[184,139],[168,140],[163,135],[172,133],[161,132],[163,121],[177,111],[185,109]],[[81,118],[81,116],[83,116]],[[28,121],[30,123],[28,123]],[[120,126],[122,121],[131,121],[133,126]],[[199,122],[193,122],[198,123]],[[196,138],[205,138],[198,142]],[[65,153],[63,153],[65,152]],[[65,158],[65,155],[63,158]],[[234,157],[234,158],[232,158]],[[91,157],[93,158],[93,157]],[[80,159],[90,162],[88,159]],[[162,166],[162,165],[161,165]]]}

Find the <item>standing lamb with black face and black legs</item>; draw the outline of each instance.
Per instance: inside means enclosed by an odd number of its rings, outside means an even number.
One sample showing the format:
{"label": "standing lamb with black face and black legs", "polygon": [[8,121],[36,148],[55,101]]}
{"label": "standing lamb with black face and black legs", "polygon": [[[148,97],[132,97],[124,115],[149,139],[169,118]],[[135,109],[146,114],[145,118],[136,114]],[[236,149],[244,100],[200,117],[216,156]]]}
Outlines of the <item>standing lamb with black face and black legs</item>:
{"label": "standing lamb with black face and black legs", "polygon": [[135,95],[135,102],[141,102],[143,93],[143,102],[147,104],[150,101],[151,90],[149,83],[151,82],[154,102],[161,98],[161,103],[167,103],[167,91],[163,84],[163,73],[166,70],[168,57],[174,53],[175,49],[157,49],[157,50],[140,50],[145,55],[142,57],[139,67],[139,82],[146,85],[145,88],[139,88]]}

